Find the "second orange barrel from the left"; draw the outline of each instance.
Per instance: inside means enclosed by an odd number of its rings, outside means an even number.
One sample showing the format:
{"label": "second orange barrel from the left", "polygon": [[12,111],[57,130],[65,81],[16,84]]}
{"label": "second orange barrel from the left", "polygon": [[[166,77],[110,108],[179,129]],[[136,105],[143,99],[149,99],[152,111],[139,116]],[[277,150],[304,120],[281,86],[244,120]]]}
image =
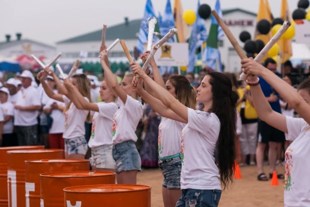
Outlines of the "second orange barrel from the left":
{"label": "second orange barrel from the left", "polygon": [[64,151],[60,149],[13,150],[8,151],[7,156],[9,207],[26,207],[25,161],[63,159]]}

